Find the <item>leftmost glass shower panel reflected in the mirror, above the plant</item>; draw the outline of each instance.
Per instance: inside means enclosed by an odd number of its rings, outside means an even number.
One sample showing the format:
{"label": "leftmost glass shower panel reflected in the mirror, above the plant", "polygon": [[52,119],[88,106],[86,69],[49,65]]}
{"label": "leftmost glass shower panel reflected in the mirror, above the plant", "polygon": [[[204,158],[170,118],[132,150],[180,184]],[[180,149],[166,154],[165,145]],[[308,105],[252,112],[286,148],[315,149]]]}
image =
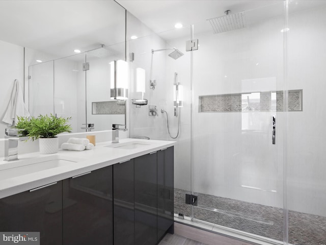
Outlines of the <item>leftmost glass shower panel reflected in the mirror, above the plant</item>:
{"label": "leftmost glass shower panel reflected in the mirror, above the plant", "polygon": [[31,116],[54,113],[53,61],[29,67],[29,111]]}

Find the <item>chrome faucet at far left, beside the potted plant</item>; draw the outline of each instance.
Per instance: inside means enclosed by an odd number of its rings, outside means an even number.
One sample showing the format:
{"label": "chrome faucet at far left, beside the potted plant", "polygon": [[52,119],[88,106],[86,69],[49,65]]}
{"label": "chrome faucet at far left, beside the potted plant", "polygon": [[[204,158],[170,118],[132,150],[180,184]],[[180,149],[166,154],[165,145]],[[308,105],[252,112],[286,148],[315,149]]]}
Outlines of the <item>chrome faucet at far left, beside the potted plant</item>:
{"label": "chrome faucet at far left, beside the potted plant", "polygon": [[4,161],[18,160],[18,140],[23,141],[28,137],[18,137],[17,129],[5,129],[5,139]]}

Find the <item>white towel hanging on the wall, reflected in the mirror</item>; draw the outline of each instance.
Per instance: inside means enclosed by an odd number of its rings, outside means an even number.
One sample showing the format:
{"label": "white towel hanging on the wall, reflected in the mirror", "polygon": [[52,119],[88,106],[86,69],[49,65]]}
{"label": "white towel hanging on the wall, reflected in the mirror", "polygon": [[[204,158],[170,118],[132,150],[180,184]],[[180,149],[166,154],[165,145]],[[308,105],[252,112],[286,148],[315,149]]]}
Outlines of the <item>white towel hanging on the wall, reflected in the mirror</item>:
{"label": "white towel hanging on the wall, reflected in the mirror", "polygon": [[2,121],[6,122],[8,126],[15,126],[17,123],[17,116],[28,117],[30,113],[24,103],[24,97],[19,82],[15,79],[9,105]]}

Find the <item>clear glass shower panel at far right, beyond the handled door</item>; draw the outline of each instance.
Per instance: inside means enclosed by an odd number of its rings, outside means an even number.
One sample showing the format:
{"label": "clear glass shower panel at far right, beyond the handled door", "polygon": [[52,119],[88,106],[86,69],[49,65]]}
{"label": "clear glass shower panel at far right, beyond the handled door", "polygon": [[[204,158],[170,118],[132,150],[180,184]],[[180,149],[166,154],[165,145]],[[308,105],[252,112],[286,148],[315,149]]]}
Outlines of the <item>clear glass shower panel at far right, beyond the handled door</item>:
{"label": "clear glass shower panel at far right, beyond the handled door", "polygon": [[288,4],[288,88],[303,94],[302,111],[288,112],[289,243],[326,244],[326,2]]}

